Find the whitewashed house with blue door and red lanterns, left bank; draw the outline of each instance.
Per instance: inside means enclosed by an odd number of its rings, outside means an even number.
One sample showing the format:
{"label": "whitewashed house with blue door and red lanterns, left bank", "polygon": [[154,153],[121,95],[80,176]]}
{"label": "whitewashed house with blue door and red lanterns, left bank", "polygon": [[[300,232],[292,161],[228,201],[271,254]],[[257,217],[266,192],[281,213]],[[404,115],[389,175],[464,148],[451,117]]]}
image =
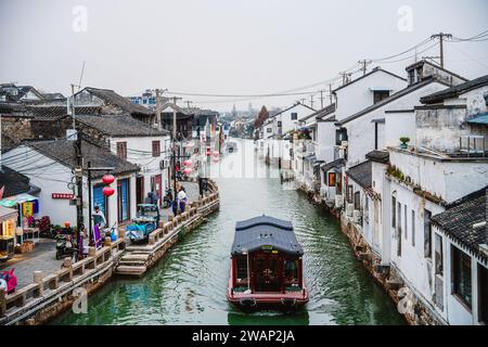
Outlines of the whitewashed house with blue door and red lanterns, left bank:
{"label": "whitewashed house with blue door and red lanterns, left bank", "polygon": [[[90,162],[92,167],[115,167],[111,171],[115,176],[112,187],[115,194],[99,196],[98,191],[105,184],[101,178],[104,171],[92,172],[92,208],[99,205],[103,210],[108,226],[125,223],[136,216],[136,175],[139,167],[119,158],[108,151],[82,141],[81,155],[85,167]],[[3,154],[3,163],[13,169],[22,169],[31,184],[39,187],[39,216],[50,216],[54,224],[68,221],[76,226],[76,205],[72,204],[75,194],[75,141],[46,140],[24,142]],[[84,217],[88,227],[88,181],[84,171]]]}

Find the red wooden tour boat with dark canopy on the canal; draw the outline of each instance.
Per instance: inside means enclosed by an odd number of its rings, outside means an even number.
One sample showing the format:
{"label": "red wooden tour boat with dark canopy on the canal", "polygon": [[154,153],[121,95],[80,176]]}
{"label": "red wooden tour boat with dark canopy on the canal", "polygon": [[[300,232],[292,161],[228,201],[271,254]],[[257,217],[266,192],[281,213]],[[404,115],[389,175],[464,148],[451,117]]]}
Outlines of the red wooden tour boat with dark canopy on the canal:
{"label": "red wooden tour boat with dark canopy on the canal", "polygon": [[308,301],[303,256],[292,222],[268,216],[237,221],[228,300],[244,309],[301,307]]}

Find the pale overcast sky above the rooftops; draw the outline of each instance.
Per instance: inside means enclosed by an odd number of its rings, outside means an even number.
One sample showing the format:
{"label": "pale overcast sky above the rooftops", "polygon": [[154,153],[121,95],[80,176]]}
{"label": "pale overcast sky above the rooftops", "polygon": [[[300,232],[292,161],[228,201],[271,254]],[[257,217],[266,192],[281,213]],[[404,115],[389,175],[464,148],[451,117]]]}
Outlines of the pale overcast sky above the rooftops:
{"label": "pale overcast sky above the rooftops", "polygon": [[[411,16],[398,13],[403,5]],[[488,29],[487,13],[486,0],[0,0],[0,81],[67,94],[86,61],[84,87],[124,95],[149,88],[275,93],[335,77],[360,59],[399,53],[435,33],[474,36]],[[488,41],[447,43],[445,52],[447,68],[467,78],[488,74]],[[419,55],[427,54],[438,55],[438,48]],[[380,65],[403,75],[412,62]],[[321,88],[328,87],[303,90]],[[243,98],[235,105],[286,106],[300,98]],[[219,111],[234,102],[187,100]]]}

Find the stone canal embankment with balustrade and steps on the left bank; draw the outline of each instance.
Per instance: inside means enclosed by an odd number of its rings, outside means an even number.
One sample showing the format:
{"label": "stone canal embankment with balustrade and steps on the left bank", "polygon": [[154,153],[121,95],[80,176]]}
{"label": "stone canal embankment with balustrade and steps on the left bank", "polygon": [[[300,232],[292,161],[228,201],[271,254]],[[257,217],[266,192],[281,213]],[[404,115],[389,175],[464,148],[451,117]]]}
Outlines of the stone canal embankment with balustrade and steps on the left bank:
{"label": "stone canal embankment with balustrade and steps on the left bank", "polygon": [[[189,204],[187,211],[176,218],[160,222],[150,234],[147,245],[127,245],[125,232],[119,239],[70,264],[66,259],[55,273],[43,277],[34,272],[34,282],[5,295],[0,291],[0,325],[43,324],[78,304],[84,295],[90,295],[106,284],[114,275],[142,275],[153,267],[182,235],[190,232],[220,205],[217,184],[209,180],[210,193]],[[77,301],[77,303],[75,303]]]}

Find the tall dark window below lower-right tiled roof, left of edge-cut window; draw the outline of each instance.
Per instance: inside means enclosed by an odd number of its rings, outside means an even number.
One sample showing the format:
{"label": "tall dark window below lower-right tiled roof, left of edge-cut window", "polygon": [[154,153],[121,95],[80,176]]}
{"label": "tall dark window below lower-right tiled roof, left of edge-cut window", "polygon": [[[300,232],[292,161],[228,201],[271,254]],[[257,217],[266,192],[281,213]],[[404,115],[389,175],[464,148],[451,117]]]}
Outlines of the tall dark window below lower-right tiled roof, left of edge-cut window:
{"label": "tall dark window below lower-right tiled roof, left of edge-cut window", "polygon": [[452,294],[471,310],[471,257],[455,246],[451,246]]}

